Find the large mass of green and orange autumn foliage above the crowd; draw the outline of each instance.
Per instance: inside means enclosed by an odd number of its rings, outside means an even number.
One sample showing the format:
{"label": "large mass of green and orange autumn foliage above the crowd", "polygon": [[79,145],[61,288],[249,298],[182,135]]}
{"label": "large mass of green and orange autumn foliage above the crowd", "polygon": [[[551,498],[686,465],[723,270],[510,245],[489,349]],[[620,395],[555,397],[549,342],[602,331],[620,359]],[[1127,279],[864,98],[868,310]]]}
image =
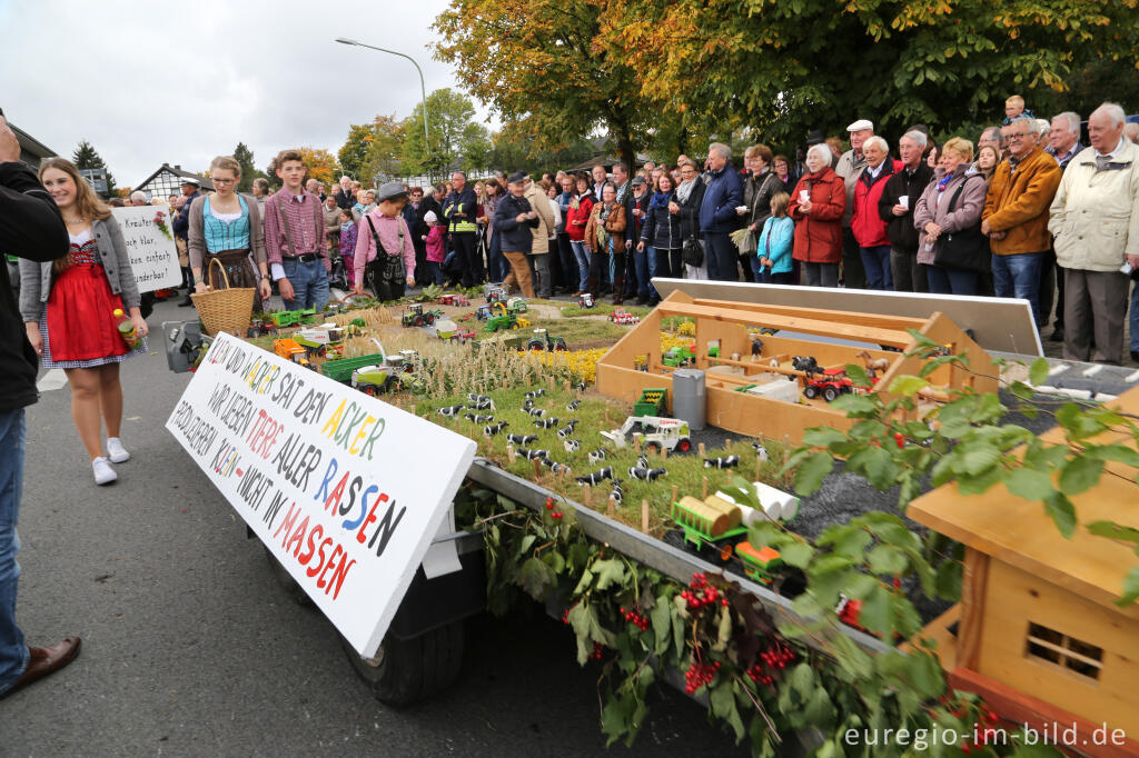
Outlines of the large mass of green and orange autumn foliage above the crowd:
{"label": "large mass of green and orange autumn foliage above the crowd", "polygon": [[[1051,114],[1117,98],[1104,83],[1134,91],[1137,5],[452,0],[435,55],[546,146],[603,130],[625,159],[653,142],[699,151],[696,135],[744,127],[794,143],[855,117],[886,134],[921,122],[972,135],[1014,92]],[[1103,91],[1072,91],[1083,82]]]}

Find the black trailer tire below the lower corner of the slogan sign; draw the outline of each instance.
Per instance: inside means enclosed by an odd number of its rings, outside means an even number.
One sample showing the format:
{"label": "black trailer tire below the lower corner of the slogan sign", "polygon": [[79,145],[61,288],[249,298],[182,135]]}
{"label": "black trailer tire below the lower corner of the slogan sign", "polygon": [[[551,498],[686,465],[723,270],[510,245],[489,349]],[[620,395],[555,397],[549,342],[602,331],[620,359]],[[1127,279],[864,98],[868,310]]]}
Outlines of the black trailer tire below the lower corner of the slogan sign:
{"label": "black trailer tire below the lower corner of the slogan sign", "polygon": [[462,669],[461,620],[411,640],[388,634],[370,659],[357,654],[343,637],[341,644],[376,700],[395,708],[426,700],[449,687]]}

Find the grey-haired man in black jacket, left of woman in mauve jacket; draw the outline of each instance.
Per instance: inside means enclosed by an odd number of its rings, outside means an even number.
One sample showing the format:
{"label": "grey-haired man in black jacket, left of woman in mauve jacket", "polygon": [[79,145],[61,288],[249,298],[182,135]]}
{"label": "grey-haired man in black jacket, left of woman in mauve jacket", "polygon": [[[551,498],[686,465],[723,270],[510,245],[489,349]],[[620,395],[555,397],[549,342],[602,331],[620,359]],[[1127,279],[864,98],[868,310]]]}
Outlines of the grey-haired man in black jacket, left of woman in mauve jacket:
{"label": "grey-haired man in black jacket, left of woman in mauve jacket", "polygon": [[925,132],[906,132],[898,141],[902,168],[886,180],[878,200],[878,215],[888,222],[890,271],[899,293],[928,293],[929,280],[918,264],[918,230],[913,226],[913,206],[933,179],[933,168],[921,159],[929,138]]}

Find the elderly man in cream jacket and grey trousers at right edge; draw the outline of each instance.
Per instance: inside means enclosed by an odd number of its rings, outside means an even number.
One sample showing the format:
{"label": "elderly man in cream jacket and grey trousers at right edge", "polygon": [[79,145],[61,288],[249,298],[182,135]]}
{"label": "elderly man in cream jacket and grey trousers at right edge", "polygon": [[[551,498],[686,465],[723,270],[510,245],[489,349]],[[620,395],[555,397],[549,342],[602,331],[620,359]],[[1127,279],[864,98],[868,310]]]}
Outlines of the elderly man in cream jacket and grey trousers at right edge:
{"label": "elderly man in cream jacket and grey trousers at right edge", "polygon": [[[1064,357],[1120,363],[1128,275],[1139,271],[1139,147],[1123,139],[1123,108],[1105,102],[1088,117],[1091,147],[1064,171],[1048,230],[1064,267]],[[1139,291],[1139,290],[1137,290]],[[1139,360],[1139,295],[1131,297],[1131,357]]]}

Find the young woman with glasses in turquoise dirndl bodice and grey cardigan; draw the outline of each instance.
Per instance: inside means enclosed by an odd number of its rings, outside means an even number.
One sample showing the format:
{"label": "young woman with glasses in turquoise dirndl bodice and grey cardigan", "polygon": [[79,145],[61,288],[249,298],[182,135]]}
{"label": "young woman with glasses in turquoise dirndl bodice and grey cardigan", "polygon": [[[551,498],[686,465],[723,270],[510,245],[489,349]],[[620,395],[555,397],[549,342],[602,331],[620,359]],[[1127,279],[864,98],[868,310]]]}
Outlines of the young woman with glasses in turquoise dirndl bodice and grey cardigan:
{"label": "young woman with glasses in turquoise dirndl bodice and grey cardigan", "polygon": [[[265,230],[261,223],[261,206],[252,195],[239,195],[241,166],[230,156],[219,156],[210,164],[214,193],[199,197],[190,208],[190,269],[194,291],[210,288],[253,287],[253,310],[264,310],[272,295],[269,262],[265,257]],[[221,275],[216,259],[226,270]]]}

